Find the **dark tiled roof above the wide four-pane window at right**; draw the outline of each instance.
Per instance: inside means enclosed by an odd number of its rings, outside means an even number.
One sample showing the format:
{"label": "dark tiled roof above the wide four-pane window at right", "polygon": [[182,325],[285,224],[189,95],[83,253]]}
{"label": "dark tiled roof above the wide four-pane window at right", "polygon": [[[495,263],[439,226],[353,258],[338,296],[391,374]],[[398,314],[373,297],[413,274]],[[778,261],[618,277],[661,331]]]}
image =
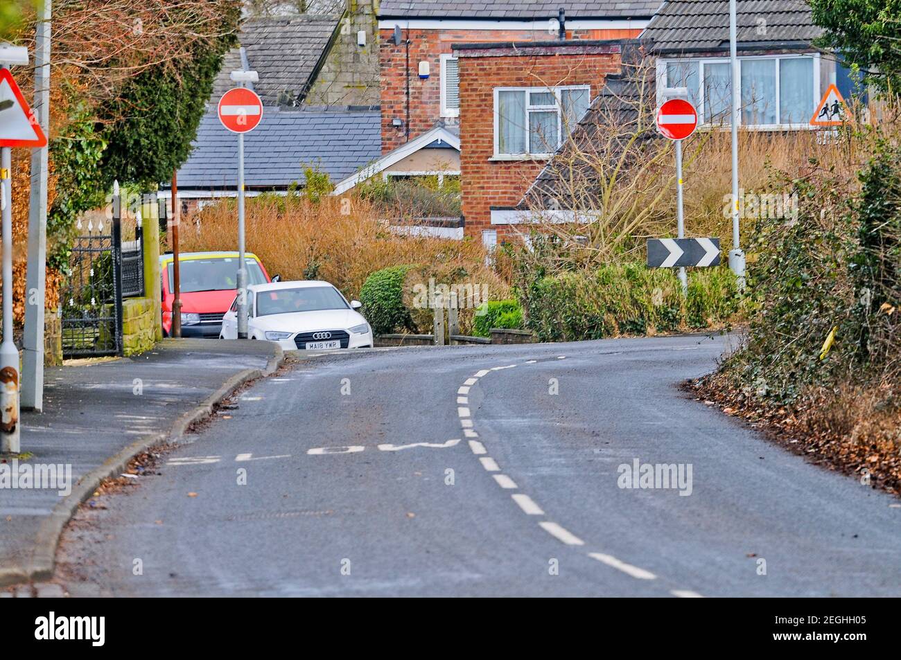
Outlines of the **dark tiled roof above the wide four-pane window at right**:
{"label": "dark tiled roof above the wide four-pane window at right", "polygon": [[[738,0],[739,48],[809,44],[823,30],[803,0]],[[760,34],[761,29],[765,30]],[[667,0],[641,35],[658,52],[728,50],[728,0]]]}

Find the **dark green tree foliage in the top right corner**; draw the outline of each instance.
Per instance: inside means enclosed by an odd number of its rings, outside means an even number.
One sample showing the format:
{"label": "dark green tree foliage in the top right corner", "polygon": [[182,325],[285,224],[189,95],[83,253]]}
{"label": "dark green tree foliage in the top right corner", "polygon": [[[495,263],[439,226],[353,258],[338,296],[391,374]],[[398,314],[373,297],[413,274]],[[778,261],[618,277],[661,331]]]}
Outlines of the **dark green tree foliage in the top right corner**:
{"label": "dark green tree foliage in the top right corner", "polygon": [[817,40],[834,50],[879,89],[901,92],[901,0],[808,0]]}

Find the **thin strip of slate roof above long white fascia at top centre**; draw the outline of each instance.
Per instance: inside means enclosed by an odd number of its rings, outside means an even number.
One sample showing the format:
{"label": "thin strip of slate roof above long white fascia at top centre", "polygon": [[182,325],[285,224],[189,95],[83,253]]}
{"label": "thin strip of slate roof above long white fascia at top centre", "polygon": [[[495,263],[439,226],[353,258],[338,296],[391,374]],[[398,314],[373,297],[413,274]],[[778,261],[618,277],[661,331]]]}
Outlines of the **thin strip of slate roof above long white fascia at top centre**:
{"label": "thin strip of slate roof above long white fascia at top centre", "polygon": [[651,17],[661,0],[382,0],[379,18],[462,18],[508,21]]}

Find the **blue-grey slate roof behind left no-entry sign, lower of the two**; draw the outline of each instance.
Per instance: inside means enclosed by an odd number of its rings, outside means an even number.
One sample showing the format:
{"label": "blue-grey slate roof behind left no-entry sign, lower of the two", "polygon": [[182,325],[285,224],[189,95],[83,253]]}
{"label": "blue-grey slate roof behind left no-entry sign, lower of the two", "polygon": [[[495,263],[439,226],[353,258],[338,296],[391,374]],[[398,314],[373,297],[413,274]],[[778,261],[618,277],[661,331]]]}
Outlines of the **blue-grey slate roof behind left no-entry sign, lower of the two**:
{"label": "blue-grey slate roof behind left no-entry sign, lower of the two", "polygon": [[[381,156],[378,110],[277,110],[267,108],[244,138],[248,188],[285,188],[305,183],[303,167],[318,166],[332,182]],[[238,139],[215,112],[205,114],[187,163],[178,170],[180,190],[235,190]]]}

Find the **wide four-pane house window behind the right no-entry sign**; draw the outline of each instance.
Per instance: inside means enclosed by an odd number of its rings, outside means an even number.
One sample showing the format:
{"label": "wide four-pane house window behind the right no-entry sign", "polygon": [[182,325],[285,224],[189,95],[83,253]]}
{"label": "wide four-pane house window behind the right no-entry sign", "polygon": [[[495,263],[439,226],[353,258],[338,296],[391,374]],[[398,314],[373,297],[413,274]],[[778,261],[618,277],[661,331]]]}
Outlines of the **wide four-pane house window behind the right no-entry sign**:
{"label": "wide four-pane house window behind the right no-entry sign", "polygon": [[[739,58],[742,126],[806,128],[819,99],[819,59],[809,55]],[[662,94],[685,87],[703,124],[731,121],[729,59],[661,59]]]}

